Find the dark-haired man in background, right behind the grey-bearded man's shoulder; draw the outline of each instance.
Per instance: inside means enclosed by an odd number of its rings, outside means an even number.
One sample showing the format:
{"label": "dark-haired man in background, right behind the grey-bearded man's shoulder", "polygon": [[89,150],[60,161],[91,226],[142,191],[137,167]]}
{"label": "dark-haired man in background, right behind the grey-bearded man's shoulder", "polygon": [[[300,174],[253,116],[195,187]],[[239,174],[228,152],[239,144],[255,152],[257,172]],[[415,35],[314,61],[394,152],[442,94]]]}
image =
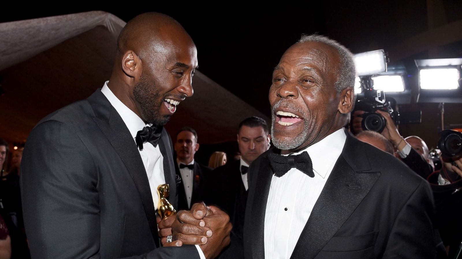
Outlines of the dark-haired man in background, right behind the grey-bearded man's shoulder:
{"label": "dark-haired man in background, right behind the grey-bearded man's shoulder", "polygon": [[244,119],[237,129],[241,158],[213,170],[207,179],[207,204],[216,204],[230,216],[233,224],[231,245],[220,258],[243,258],[243,226],[249,183],[249,165],[268,150],[271,136],[267,123],[259,117]]}

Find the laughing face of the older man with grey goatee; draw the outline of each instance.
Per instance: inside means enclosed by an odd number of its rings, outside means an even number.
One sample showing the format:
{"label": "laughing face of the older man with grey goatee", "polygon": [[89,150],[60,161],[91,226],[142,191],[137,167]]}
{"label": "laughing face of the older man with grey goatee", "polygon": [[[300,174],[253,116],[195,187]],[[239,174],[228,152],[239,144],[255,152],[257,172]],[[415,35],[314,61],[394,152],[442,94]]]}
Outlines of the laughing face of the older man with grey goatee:
{"label": "laughing face of the older man with grey goatee", "polygon": [[322,42],[296,43],[284,53],[269,91],[276,147],[297,151],[344,126],[338,113],[346,91],[334,89],[339,63],[338,51]]}

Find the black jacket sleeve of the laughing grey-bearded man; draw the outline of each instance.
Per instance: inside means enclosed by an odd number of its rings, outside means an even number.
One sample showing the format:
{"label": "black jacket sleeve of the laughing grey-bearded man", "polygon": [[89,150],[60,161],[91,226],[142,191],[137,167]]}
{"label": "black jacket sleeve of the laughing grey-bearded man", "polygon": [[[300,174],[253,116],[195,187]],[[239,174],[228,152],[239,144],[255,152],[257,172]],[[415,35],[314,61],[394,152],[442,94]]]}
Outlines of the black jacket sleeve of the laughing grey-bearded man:
{"label": "black jacket sleeve of the laughing grey-bearded man", "polygon": [[432,191],[422,180],[396,217],[383,258],[436,258],[433,218]]}

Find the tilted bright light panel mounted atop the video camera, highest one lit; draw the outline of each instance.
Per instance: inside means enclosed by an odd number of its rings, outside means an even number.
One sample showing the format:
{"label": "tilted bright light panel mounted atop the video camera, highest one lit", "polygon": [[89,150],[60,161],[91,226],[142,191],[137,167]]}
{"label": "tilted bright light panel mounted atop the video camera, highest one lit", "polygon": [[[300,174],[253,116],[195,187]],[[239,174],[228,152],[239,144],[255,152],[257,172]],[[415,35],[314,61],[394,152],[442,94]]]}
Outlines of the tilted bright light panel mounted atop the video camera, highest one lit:
{"label": "tilted bright light panel mounted atop the video camera, highest one lit", "polygon": [[387,71],[383,49],[355,54],[353,59],[356,66],[356,75],[359,77]]}

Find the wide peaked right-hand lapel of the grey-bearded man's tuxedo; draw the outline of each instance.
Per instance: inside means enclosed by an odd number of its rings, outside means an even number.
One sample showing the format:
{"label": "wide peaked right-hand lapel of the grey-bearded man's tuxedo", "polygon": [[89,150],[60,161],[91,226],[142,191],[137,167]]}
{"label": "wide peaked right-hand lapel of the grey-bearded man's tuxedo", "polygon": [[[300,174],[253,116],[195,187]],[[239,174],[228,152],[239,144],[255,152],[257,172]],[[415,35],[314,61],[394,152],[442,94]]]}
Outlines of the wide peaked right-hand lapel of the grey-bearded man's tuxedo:
{"label": "wide peaked right-hand lapel of the grey-bearded man's tuxedo", "polygon": [[[314,258],[350,217],[380,177],[380,172],[361,172],[371,167],[364,147],[356,139],[351,138],[354,137],[347,135],[342,154],[313,207],[291,259]],[[351,153],[356,153],[356,157]],[[353,170],[352,163],[356,164],[356,171]]]}

